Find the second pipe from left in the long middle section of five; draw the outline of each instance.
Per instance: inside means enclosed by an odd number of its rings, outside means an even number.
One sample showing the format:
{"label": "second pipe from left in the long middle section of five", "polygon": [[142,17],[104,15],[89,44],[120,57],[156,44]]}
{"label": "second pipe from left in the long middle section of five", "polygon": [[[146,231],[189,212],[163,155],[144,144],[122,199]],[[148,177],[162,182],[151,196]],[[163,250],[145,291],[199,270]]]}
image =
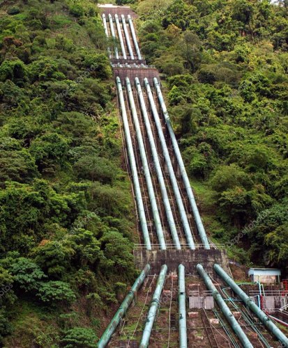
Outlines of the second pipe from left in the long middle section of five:
{"label": "second pipe from left in the long middle section of five", "polygon": [[153,183],[151,180],[149,164],[148,164],[148,160],[146,157],[144,141],[143,141],[143,137],[142,137],[142,133],[141,133],[141,128],[139,125],[139,120],[138,120],[135,101],[134,101],[134,97],[133,97],[133,93],[132,93],[132,88],[131,88],[130,80],[128,77],[126,77],[126,86],[127,86],[127,91],[128,91],[128,97],[129,97],[129,102],[130,102],[130,109],[131,109],[131,113],[132,113],[132,118],[133,118],[133,122],[135,125],[137,141],[139,144],[139,152],[140,152],[140,157],[141,157],[141,161],[142,161],[142,168],[143,168],[145,179],[146,179],[149,199],[151,202],[151,209],[152,209],[154,224],[155,224],[156,232],[157,232],[157,236],[158,236],[158,242],[160,244],[160,249],[166,250],[165,237],[164,237],[164,233],[162,230],[160,215],[158,212],[157,201],[156,201],[156,196],[155,196],[154,189],[153,189]]}

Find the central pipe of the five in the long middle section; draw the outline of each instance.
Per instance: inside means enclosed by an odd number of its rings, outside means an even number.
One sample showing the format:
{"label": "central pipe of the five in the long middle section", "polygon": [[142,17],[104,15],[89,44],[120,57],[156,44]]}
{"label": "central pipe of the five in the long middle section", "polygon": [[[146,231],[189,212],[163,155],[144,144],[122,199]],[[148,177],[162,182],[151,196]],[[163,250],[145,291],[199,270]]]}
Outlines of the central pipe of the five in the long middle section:
{"label": "central pipe of the five in the long middle section", "polygon": [[176,229],[176,225],[175,225],[175,221],[174,221],[174,216],[173,216],[171,205],[170,205],[170,202],[169,202],[169,197],[168,197],[168,194],[167,194],[165,180],[164,180],[164,177],[163,177],[163,174],[162,174],[162,169],[161,169],[161,166],[160,166],[158,152],[157,152],[156,144],[155,144],[154,137],[153,137],[153,132],[152,132],[151,125],[150,125],[149,116],[148,116],[148,113],[147,113],[147,109],[146,109],[146,105],[145,105],[145,101],[144,101],[144,97],[143,97],[143,93],[142,93],[141,84],[140,84],[139,79],[137,77],[135,78],[135,85],[136,85],[136,88],[137,88],[137,93],[138,93],[140,106],[141,106],[141,110],[142,110],[142,115],[143,115],[143,118],[144,118],[146,131],[147,131],[147,134],[148,134],[148,139],[149,139],[149,144],[150,144],[150,148],[151,148],[151,152],[152,152],[153,162],[154,162],[154,165],[155,165],[156,174],[157,174],[158,182],[159,182],[159,185],[160,185],[160,190],[161,190],[161,193],[162,193],[162,200],[163,200],[163,204],[164,204],[164,207],[165,207],[165,212],[166,212],[166,216],[167,216],[167,221],[168,221],[168,224],[169,224],[170,232],[171,232],[171,235],[172,235],[173,242],[175,244],[175,248],[176,249],[181,249],[181,244],[179,242],[179,236],[178,236],[178,233],[177,233],[177,229]]}

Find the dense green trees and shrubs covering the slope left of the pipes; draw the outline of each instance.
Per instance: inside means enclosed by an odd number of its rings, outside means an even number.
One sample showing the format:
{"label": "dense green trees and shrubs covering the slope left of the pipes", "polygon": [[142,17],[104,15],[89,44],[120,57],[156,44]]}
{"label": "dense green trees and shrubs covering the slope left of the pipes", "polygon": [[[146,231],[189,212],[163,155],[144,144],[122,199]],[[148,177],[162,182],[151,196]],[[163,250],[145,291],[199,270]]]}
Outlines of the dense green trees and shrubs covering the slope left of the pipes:
{"label": "dense green trees and shrubs covering the slope left of the pipes", "polygon": [[135,278],[98,8],[5,1],[0,16],[0,342],[96,347]]}

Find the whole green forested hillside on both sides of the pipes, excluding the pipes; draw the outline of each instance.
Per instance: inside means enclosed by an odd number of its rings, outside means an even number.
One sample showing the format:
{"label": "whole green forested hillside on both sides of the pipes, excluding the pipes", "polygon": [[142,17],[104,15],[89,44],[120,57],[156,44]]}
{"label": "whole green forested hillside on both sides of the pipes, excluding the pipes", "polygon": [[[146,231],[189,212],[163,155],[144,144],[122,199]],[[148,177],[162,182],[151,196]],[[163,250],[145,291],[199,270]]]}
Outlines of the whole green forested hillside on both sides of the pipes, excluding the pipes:
{"label": "whole green forested hillside on both sides of the pipes, excluding the pipes", "polygon": [[[116,3],[139,15],[209,237],[287,270],[288,3]],[[139,242],[112,41],[97,1],[0,6],[0,347],[96,347]]]}

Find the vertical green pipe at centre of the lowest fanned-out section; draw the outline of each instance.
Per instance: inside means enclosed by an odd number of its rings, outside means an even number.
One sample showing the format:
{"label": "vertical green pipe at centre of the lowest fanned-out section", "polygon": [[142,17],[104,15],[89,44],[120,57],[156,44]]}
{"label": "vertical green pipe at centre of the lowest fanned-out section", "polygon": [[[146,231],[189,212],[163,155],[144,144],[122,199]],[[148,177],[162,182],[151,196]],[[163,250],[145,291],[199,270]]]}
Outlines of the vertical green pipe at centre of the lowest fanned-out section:
{"label": "vertical green pipe at centre of the lowest fanned-out section", "polygon": [[179,347],[187,348],[187,325],[186,325],[186,294],[185,294],[185,267],[178,267],[178,306],[179,306]]}

